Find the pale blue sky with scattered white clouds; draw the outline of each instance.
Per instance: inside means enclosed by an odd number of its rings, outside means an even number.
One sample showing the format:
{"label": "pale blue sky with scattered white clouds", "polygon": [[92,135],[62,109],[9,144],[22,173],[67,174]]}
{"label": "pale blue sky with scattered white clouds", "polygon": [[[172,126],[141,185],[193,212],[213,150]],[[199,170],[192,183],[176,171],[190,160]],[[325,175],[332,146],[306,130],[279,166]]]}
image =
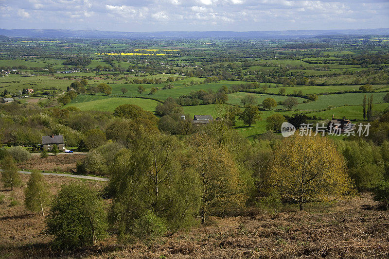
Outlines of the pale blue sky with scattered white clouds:
{"label": "pale blue sky with scattered white clouds", "polygon": [[389,27],[389,0],[0,0],[2,29],[123,32]]}

